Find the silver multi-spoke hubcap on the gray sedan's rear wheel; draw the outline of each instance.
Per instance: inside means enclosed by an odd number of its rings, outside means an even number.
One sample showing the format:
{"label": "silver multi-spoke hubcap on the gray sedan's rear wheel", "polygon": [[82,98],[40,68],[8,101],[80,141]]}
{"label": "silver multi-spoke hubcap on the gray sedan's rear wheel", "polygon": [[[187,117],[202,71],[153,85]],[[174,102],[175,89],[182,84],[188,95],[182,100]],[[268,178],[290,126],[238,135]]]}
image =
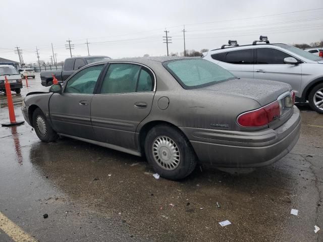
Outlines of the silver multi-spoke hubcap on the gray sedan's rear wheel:
{"label": "silver multi-spoke hubcap on the gray sedan's rear wheel", "polygon": [[153,141],[152,154],[157,164],[165,170],[176,169],[181,161],[177,144],[167,136],[159,136]]}

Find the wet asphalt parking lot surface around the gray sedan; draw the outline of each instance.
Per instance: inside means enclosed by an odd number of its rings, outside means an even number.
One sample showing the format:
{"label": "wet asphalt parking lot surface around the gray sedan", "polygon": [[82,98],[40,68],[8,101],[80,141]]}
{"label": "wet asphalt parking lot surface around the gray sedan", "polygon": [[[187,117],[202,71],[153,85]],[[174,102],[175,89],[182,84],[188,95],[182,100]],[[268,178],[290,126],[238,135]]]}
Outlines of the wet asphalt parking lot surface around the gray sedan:
{"label": "wet asphalt parking lot surface around the gray sedan", "polygon": [[[13,93],[17,120],[42,88],[38,75],[28,84]],[[247,174],[197,167],[181,181],[155,179],[144,158],[0,127],[0,212],[36,241],[323,241],[323,114],[298,107],[301,136],[280,161]],[[14,240],[0,227],[0,241]]]}

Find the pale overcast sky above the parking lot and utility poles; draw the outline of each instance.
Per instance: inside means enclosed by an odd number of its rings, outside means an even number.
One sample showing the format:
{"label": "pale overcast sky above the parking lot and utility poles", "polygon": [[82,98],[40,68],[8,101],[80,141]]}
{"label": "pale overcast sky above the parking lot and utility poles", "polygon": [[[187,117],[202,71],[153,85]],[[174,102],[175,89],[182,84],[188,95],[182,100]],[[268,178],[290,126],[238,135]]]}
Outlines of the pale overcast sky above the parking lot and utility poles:
{"label": "pale overcast sky above the parking lot and utility poles", "polygon": [[47,62],[70,56],[65,49],[70,38],[73,55],[113,58],[165,55],[165,28],[170,31],[170,52],[219,48],[228,39],[249,44],[259,35],[271,42],[310,43],[323,40],[322,0],[145,0],[145,1],[2,1],[0,57],[19,61],[14,48],[23,49],[25,63],[35,63],[36,46]]}

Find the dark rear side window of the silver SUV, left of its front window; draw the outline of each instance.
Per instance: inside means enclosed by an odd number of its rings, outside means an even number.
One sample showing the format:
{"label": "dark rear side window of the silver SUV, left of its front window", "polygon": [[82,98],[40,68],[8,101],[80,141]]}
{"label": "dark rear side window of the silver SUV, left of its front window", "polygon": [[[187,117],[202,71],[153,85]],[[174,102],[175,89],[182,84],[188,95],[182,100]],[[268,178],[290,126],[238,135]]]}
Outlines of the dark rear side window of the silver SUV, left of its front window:
{"label": "dark rear side window of the silver SUV, left of its front window", "polygon": [[253,64],[253,50],[240,49],[228,52],[212,54],[213,59],[230,64],[250,65]]}

